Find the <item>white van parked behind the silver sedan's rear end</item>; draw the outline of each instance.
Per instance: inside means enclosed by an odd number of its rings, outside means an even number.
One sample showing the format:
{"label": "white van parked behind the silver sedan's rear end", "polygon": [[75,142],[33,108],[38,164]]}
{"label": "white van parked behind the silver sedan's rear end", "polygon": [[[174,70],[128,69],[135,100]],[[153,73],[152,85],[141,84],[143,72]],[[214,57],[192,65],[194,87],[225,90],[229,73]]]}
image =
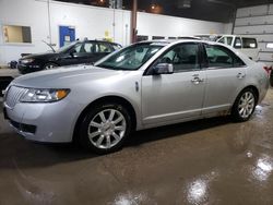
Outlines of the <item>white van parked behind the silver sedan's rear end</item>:
{"label": "white van parked behind the silver sedan's rear end", "polygon": [[229,45],[247,55],[253,61],[258,61],[259,48],[256,38],[237,35],[223,35],[216,41]]}

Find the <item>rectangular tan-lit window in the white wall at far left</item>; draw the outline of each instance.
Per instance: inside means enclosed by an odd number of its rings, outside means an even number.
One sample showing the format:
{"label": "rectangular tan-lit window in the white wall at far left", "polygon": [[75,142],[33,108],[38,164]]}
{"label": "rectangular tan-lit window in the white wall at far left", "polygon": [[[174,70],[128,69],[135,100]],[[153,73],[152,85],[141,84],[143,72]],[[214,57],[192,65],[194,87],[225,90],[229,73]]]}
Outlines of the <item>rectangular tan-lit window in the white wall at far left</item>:
{"label": "rectangular tan-lit window in the white wall at far left", "polygon": [[32,43],[32,32],[29,26],[4,25],[3,26],[4,43]]}

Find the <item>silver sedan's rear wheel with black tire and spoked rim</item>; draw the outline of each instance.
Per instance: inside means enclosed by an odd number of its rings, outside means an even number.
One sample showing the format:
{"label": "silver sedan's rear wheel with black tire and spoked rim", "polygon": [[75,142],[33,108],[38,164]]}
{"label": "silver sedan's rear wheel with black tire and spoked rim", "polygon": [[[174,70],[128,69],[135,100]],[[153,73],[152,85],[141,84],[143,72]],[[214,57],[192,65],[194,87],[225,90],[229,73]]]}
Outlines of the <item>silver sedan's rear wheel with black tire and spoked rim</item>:
{"label": "silver sedan's rear wheel with black tire and spoked rim", "polygon": [[237,122],[248,121],[254,112],[258,96],[252,88],[244,89],[236,98],[232,117]]}

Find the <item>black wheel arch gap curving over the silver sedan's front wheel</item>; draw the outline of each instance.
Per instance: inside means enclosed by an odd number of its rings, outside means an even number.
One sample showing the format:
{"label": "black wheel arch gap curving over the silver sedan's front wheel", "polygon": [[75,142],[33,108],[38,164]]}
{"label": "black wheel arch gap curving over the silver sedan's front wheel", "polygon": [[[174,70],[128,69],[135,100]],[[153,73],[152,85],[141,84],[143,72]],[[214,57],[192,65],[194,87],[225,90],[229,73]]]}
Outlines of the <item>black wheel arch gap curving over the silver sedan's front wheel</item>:
{"label": "black wheel arch gap curving over the silver sedan's front wheel", "polygon": [[127,110],[130,113],[130,117],[132,119],[132,130],[134,131],[136,128],[136,112],[132,106],[132,104],[130,101],[128,101],[127,99],[124,99],[123,97],[119,97],[119,96],[105,96],[105,97],[100,97],[94,101],[92,101],[91,104],[88,104],[80,113],[79,118],[76,119],[74,129],[73,129],[73,136],[72,136],[72,141],[76,141],[76,134],[78,131],[80,130],[80,125],[81,125],[81,121],[83,120],[85,113],[87,113],[87,111],[90,109],[92,109],[92,107],[102,105],[104,102],[115,102],[115,104],[120,104],[121,106],[124,106],[124,108],[127,108]]}

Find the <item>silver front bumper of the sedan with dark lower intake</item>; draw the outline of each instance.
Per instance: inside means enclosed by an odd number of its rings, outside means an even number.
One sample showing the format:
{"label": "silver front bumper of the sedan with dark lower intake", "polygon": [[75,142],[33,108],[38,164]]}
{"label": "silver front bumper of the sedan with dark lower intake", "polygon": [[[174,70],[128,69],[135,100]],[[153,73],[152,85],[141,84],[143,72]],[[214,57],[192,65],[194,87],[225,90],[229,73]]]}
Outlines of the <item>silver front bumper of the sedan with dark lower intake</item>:
{"label": "silver front bumper of the sedan with dark lower intake", "polygon": [[72,142],[80,105],[61,100],[50,104],[22,104],[9,108],[3,104],[3,113],[11,126],[26,140],[45,143]]}

